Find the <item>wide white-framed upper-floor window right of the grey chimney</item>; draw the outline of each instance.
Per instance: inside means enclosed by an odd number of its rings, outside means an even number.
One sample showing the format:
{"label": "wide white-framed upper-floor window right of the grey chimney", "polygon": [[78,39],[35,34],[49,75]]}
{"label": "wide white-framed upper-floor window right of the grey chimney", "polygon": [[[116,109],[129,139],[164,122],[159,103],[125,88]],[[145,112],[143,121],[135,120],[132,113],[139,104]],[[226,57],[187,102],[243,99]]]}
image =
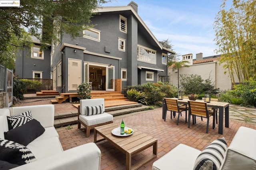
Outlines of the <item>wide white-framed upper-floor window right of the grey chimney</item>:
{"label": "wide white-framed upper-floor window right of the grey chimney", "polygon": [[153,49],[138,45],[137,54],[139,61],[156,64],[156,51]]}

